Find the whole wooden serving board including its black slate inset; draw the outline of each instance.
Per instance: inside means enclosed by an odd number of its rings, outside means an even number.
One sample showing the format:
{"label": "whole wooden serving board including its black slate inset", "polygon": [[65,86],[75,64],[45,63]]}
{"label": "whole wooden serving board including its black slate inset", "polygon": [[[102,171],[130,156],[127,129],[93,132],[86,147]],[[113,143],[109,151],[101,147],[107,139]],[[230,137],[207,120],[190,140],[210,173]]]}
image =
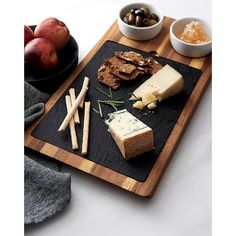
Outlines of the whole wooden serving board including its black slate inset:
{"label": "whole wooden serving board including its black slate inset", "polygon": [[[126,39],[119,33],[115,22],[68,80],[52,96],[46,104],[45,115],[26,131],[25,146],[140,196],[151,197],[211,75],[210,56],[199,59],[185,58],[169,48],[167,29],[172,21],[173,19],[165,17],[162,33],[156,39],[150,40],[148,44]],[[113,31],[116,33],[114,34]],[[162,41],[160,41],[159,47],[155,48],[160,38]],[[165,45],[163,45],[163,41]],[[153,51],[153,48],[160,56],[156,57],[148,53]],[[167,55],[166,48],[169,50]],[[86,100],[91,101],[91,106],[97,108],[97,100],[105,99],[105,96],[94,87],[107,90],[98,82],[96,72],[104,58],[114,55],[116,51],[136,51],[144,57],[152,56],[163,66],[169,64],[179,71],[185,81],[183,92],[159,103],[158,108],[154,111],[135,110],[132,108],[133,103],[129,101],[130,93],[143,83],[149,77],[148,75],[126,83],[113,91],[114,98],[124,99],[123,108],[150,126],[154,132],[155,149],[131,161],[123,159],[107,131],[107,125],[93,111],[91,111],[89,152],[86,156],[81,155],[81,149],[72,150],[69,129],[63,133],[57,131],[66,114],[65,95],[68,94],[71,87],[79,92],[85,76],[90,78]],[[111,107],[103,106],[104,114],[113,111]],[[83,124],[83,111],[80,111],[80,117]],[[81,147],[82,127],[77,128],[77,135]]]}

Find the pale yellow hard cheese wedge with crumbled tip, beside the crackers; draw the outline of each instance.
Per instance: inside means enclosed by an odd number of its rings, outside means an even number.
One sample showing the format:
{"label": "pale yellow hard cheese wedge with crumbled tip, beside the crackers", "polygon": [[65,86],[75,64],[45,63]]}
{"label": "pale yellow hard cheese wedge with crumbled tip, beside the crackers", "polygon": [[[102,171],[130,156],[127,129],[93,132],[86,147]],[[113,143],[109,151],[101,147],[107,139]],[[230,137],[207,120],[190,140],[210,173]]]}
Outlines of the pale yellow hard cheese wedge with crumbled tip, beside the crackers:
{"label": "pale yellow hard cheese wedge with crumbled tip, beside the crackers", "polygon": [[[155,101],[162,101],[178,94],[184,88],[182,75],[169,65],[152,75],[151,78],[141,84],[134,92],[130,100],[142,99],[143,107]],[[140,103],[134,104],[135,108],[142,109]]]}

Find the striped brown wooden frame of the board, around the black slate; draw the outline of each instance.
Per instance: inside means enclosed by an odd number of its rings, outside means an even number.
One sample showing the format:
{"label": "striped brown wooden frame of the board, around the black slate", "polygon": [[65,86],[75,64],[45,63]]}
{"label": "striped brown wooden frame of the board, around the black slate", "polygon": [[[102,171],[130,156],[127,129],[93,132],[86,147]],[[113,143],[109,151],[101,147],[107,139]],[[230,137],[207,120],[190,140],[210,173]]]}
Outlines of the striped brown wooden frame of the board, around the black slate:
{"label": "striped brown wooden frame of the board, around the black slate", "polygon": [[[85,57],[85,59],[77,66],[70,77],[62,84],[62,86],[47,102],[45,107],[45,115],[26,130],[25,146],[47,156],[50,156],[54,159],[62,161],[91,175],[94,175],[107,182],[115,184],[130,192],[134,192],[140,196],[151,197],[169,161],[171,160],[171,157],[173,156],[173,153],[184,133],[184,130],[187,127],[187,124],[191,116],[193,115],[197,104],[200,101],[201,96],[211,78],[211,55],[204,58],[191,59],[183,57],[173,50],[169,41],[169,27],[173,21],[174,19],[165,17],[164,26],[161,33],[156,38],[145,42],[138,42],[125,38],[119,32],[117,22],[115,21],[110,29]],[[174,123],[173,128],[171,128],[171,133],[168,134],[163,147],[158,153],[158,158],[155,159],[153,165],[151,166],[151,170],[143,179],[134,178],[133,176],[131,177],[125,174],[125,172],[118,172],[114,169],[109,168],[109,166],[100,165],[91,159],[89,160],[89,158],[82,157],[78,155],[78,153],[71,152],[68,149],[63,148],[63,145],[55,145],[55,143],[51,142],[50,139],[41,138],[40,132],[38,132],[39,134],[37,133],[37,130],[39,129],[38,127],[43,127],[43,125],[44,128],[47,127],[45,126],[45,124],[47,124],[47,122],[45,123],[45,120],[47,121],[47,117],[50,117],[53,109],[62,99],[62,95],[64,95],[65,91],[67,91],[68,88],[71,87],[71,84],[77,82],[78,76],[83,74],[86,66],[89,65],[91,59],[95,57],[94,55],[97,55],[100,48],[104,46],[104,43],[107,40],[112,40],[146,52],[155,51],[161,57],[165,57],[202,70],[200,78],[194,85],[194,89],[189,94],[186,103],[184,103],[184,107],[183,109],[181,109],[181,113]],[[95,70],[97,70],[97,68],[95,68]],[[41,131],[42,130],[43,129],[41,129]],[[104,130],[104,132],[106,132],[106,130]],[[94,155],[95,154],[96,153],[94,153]]]}

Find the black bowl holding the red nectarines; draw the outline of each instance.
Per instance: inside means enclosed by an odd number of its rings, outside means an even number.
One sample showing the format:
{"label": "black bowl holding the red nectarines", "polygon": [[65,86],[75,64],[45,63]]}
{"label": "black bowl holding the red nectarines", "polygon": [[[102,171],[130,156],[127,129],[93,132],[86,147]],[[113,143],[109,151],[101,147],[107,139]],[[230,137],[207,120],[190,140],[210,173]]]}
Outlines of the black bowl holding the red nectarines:
{"label": "black bowl holding the red nectarines", "polygon": [[[33,30],[35,26],[30,26]],[[58,64],[53,69],[36,70],[25,65],[25,81],[44,92],[54,92],[78,64],[79,47],[70,36],[69,42],[57,51]]]}

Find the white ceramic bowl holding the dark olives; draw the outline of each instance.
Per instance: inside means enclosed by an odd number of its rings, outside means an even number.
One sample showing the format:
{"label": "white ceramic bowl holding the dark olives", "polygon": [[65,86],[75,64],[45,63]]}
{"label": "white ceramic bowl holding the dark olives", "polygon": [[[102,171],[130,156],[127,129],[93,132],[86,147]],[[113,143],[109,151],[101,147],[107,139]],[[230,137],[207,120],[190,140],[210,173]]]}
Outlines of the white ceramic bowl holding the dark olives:
{"label": "white ceramic bowl holding the dark olives", "polygon": [[[122,19],[125,14],[130,12],[133,8],[141,8],[146,6],[150,12],[155,13],[159,17],[159,22],[155,25],[148,27],[136,27],[133,25],[126,24]],[[153,5],[147,3],[132,3],[121,8],[118,16],[118,26],[121,33],[129,39],[143,41],[155,38],[161,31],[163,25],[163,13],[162,11]]]}

